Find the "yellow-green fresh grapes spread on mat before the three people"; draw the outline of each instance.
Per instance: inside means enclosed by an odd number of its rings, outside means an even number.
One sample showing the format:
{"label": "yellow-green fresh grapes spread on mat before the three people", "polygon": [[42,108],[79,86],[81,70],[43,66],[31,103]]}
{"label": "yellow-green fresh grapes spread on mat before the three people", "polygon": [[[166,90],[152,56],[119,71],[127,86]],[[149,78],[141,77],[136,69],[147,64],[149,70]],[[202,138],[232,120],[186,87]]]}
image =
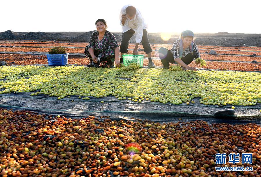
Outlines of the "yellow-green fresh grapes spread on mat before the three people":
{"label": "yellow-green fresh grapes spread on mat before the three people", "polygon": [[0,76],[0,94],[34,92],[31,95],[60,99],[69,95],[81,99],[113,95],[120,100],[172,104],[193,103],[195,97],[201,97],[200,103],[205,105],[261,103],[261,74],[251,72],[27,65],[0,67]]}

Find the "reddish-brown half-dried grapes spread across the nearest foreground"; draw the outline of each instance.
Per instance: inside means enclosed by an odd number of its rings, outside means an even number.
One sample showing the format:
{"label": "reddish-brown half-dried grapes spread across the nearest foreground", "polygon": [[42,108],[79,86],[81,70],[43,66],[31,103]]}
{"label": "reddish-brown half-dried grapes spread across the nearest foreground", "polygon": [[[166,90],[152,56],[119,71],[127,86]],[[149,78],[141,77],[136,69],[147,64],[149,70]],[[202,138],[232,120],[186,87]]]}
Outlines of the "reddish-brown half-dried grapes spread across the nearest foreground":
{"label": "reddish-brown half-dried grapes spread across the nearest foreground", "polygon": [[261,173],[255,123],[45,117],[0,108],[1,176],[236,176],[215,171],[222,152],[253,153],[252,164],[240,166]]}

